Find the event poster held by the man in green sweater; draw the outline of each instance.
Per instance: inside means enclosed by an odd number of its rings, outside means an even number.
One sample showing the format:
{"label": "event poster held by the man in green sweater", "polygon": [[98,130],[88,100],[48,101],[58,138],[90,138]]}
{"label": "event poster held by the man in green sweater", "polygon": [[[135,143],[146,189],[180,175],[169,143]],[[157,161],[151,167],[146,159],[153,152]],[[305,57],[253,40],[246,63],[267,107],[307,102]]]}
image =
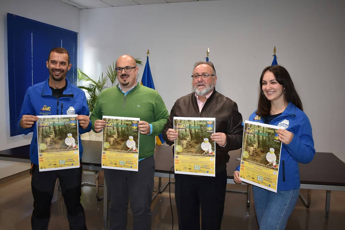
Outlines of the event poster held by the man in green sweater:
{"label": "event poster held by the man in green sweater", "polygon": [[138,171],[140,118],[103,116],[102,168]]}

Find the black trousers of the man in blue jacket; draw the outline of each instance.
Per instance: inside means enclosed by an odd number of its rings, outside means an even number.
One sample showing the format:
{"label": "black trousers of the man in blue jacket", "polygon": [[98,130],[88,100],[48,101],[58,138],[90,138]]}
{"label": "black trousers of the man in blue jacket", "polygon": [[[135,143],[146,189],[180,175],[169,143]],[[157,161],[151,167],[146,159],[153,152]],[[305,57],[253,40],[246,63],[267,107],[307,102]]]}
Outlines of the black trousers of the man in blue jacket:
{"label": "black trousers of the man in blue jacket", "polygon": [[40,172],[37,164],[31,163],[31,189],[33,211],[31,227],[34,230],[46,230],[50,218],[51,199],[56,179],[67,208],[67,219],[71,230],[87,229],[84,209],[80,203],[82,167]]}

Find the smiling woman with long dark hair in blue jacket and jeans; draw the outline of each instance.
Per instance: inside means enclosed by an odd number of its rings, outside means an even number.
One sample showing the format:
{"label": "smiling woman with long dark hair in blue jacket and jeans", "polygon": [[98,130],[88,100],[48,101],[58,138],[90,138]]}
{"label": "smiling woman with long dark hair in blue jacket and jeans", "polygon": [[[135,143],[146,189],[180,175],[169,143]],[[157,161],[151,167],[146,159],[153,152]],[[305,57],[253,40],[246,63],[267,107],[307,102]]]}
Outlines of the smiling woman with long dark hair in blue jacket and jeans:
{"label": "smiling woman with long dark hair in blue jacket and jeans", "polygon": [[[311,162],[315,154],[312,127],[284,67],[266,67],[260,88],[258,109],[249,120],[282,127],[278,138],[283,145],[277,193],[253,186],[255,211],[260,229],[284,229],[298,199],[298,163]],[[239,166],[234,171],[234,181],[242,183]]]}

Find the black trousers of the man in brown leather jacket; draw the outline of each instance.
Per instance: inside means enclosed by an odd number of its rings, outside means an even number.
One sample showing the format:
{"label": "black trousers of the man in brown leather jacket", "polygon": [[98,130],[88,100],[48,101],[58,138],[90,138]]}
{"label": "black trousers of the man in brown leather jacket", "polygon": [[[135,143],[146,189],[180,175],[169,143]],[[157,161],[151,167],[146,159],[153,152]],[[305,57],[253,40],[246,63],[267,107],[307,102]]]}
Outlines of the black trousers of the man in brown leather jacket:
{"label": "black trousers of the man in brown leather jacket", "polygon": [[179,230],[220,229],[223,218],[226,170],[215,177],[175,173],[175,200]]}

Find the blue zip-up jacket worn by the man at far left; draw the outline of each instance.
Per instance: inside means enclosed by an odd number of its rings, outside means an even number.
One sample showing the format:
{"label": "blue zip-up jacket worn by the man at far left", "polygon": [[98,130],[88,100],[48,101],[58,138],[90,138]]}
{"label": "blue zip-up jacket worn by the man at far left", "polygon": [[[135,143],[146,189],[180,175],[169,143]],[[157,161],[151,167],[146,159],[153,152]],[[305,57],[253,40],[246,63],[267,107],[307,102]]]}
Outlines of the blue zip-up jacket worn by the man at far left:
{"label": "blue zip-up jacket worn by the man at far left", "polygon": [[[20,120],[23,115],[43,116],[43,115],[66,115],[78,114],[89,116],[89,107],[84,91],[69,83],[66,78],[67,88],[63,94],[57,99],[52,95],[49,88],[49,78],[46,81],[29,87],[25,93],[23,105],[18,118],[18,129],[23,134],[33,132],[30,144],[30,160],[34,164],[38,164],[38,143],[37,143],[37,127],[36,122],[31,128],[23,129],[20,126]],[[79,125],[79,122],[78,122]],[[86,129],[79,126],[79,134],[89,132],[91,130],[91,121]],[[79,158],[83,154],[80,135],[79,139]]]}

